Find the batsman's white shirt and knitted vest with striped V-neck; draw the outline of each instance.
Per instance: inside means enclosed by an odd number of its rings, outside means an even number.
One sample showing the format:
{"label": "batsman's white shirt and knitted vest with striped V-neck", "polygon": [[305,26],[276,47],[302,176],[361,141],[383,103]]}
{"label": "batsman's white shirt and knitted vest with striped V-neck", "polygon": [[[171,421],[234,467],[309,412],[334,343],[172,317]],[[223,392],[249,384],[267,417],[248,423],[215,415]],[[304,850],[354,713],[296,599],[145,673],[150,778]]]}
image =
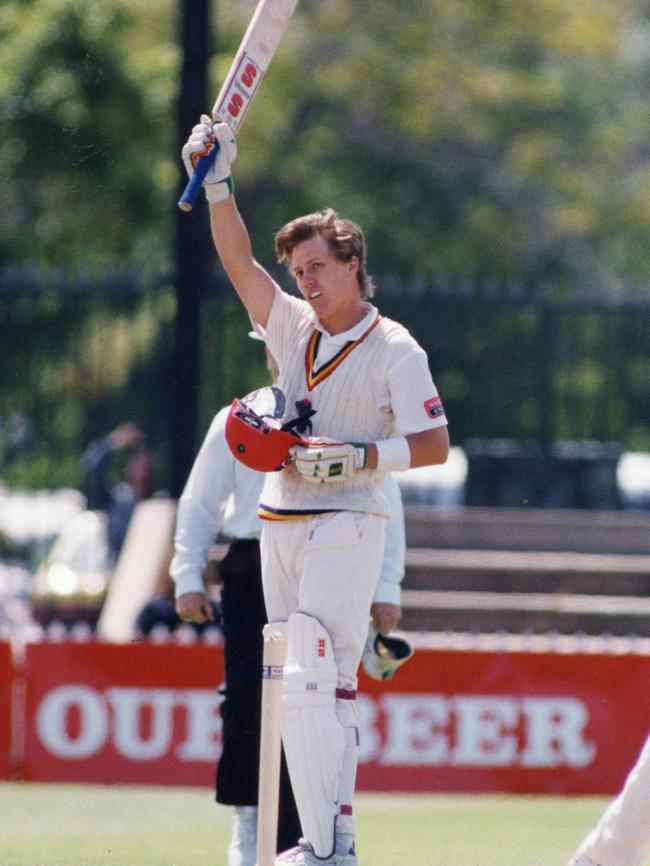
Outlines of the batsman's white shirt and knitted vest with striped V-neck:
{"label": "batsman's white shirt and knitted vest with striped V-neck", "polygon": [[[377,442],[446,425],[424,350],[402,325],[365,306],[354,328],[331,335],[306,301],[276,291],[265,336],[287,398],[283,420],[308,400],[316,413],[311,434],[341,442]],[[269,520],[332,509],[388,516],[383,478],[368,469],[319,485],[290,466],[267,476],[259,513]]]}

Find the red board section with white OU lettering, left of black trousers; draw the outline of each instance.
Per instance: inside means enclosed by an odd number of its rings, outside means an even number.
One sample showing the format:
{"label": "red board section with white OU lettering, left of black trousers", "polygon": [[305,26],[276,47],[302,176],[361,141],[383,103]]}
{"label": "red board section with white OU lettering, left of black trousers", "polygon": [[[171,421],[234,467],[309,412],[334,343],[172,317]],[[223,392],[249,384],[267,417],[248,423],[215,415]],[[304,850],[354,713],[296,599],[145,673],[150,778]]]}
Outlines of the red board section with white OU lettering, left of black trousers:
{"label": "red board section with white OU lettering, left of black trousers", "polygon": [[212,785],[222,671],[220,647],[29,646],[25,778]]}

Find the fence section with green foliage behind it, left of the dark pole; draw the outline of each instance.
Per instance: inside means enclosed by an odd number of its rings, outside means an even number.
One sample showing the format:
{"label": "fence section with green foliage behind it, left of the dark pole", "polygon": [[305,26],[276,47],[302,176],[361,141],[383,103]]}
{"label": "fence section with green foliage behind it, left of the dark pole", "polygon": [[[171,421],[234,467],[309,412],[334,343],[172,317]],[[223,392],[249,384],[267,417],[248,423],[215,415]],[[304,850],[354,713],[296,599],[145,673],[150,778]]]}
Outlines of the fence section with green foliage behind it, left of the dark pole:
{"label": "fence section with green foliage behind it, left of the dark pole", "polygon": [[[159,455],[169,438],[169,289],[116,282],[17,288],[13,297],[0,294],[2,481],[79,487],[89,440],[125,420],[148,433]],[[167,484],[164,472],[156,483]]]}

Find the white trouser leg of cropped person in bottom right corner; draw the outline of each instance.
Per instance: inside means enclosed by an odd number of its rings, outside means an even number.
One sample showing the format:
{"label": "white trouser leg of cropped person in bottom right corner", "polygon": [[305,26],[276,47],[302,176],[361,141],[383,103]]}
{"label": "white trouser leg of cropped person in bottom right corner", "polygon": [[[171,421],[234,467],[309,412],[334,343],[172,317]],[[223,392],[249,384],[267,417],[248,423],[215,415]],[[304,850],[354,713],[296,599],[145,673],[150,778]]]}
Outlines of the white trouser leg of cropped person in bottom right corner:
{"label": "white trouser leg of cropped person in bottom right corner", "polygon": [[575,856],[599,866],[642,866],[650,855],[650,736],[623,790]]}

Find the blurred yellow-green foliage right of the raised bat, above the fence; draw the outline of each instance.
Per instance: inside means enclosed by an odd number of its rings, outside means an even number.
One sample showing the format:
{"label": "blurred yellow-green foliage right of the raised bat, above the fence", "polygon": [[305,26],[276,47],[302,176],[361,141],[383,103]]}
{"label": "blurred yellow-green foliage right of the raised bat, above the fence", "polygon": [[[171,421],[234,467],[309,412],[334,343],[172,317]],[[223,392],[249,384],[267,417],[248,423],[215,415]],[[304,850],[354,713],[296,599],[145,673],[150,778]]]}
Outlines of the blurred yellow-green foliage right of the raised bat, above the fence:
{"label": "blurred yellow-green foliage right of the raised bat, above the fence", "polygon": [[633,0],[307,4],[269,75],[280,145],[256,106],[238,174],[250,148],[266,176],[273,147],[288,212],[359,219],[379,274],[639,276],[644,15]]}

